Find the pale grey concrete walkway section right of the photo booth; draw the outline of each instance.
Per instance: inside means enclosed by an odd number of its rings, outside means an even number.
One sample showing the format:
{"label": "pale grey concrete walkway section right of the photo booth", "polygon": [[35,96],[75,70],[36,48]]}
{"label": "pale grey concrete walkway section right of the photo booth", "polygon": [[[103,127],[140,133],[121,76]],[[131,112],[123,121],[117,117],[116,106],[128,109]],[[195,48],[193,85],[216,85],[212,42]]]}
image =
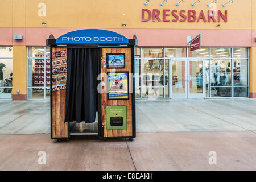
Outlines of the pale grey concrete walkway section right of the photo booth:
{"label": "pale grey concrete walkway section right of the photo booth", "polygon": [[255,99],[137,100],[138,132],[256,131]]}

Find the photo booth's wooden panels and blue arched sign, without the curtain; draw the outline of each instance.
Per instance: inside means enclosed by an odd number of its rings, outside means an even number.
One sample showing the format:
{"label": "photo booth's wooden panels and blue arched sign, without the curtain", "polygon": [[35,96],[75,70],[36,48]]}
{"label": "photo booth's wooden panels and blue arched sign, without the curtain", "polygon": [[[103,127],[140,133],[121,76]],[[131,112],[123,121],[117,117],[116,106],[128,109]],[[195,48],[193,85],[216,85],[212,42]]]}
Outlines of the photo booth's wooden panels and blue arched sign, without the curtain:
{"label": "photo booth's wooden panels and blue arched sign, without the curtain", "polygon": [[[106,30],[78,30],[55,39],[51,47],[51,139],[69,139],[70,123],[64,122],[66,111],[67,47],[97,48],[98,63],[98,136],[129,138],[135,131],[134,47],[137,39]],[[101,80],[100,80],[101,78]]]}

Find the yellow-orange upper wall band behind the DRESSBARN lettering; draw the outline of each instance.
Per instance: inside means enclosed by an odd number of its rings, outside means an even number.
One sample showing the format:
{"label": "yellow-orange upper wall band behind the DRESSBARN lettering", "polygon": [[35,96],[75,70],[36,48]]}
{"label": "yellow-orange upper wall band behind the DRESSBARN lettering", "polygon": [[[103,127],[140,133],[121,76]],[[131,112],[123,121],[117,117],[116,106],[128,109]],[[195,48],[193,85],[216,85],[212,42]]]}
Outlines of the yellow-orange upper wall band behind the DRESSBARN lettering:
{"label": "yellow-orange upper wall band behind the DRESSBARN lettering", "polygon": [[[221,30],[251,30],[255,29],[255,1],[234,1],[225,7],[219,0],[216,9],[228,10],[228,22],[198,23],[189,22],[142,22],[142,9],[177,9],[200,10],[207,12],[208,1],[201,1],[192,7],[195,0],[186,0],[176,6],[176,1],[167,1],[160,6],[160,1],[150,1],[147,6],[144,0],[1,0],[0,1],[0,27],[42,27],[46,22],[47,28],[150,28],[150,29],[216,29]],[[39,3],[46,5],[46,16],[39,16]],[[253,16],[252,16],[253,14]]]}

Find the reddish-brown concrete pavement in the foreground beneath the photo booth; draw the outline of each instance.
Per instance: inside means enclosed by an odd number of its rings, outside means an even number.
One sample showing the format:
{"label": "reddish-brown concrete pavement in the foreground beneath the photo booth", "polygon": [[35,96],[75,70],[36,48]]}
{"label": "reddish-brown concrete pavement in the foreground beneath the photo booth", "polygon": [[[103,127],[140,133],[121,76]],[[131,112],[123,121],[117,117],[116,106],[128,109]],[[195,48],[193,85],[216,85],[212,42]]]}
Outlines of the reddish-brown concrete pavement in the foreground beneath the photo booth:
{"label": "reddish-brown concrete pavement in the foreground beneath the photo booth", "polygon": [[[251,131],[137,133],[133,142],[47,135],[0,135],[0,170],[256,170]],[[38,152],[46,152],[46,165]],[[210,165],[209,152],[217,154]]]}

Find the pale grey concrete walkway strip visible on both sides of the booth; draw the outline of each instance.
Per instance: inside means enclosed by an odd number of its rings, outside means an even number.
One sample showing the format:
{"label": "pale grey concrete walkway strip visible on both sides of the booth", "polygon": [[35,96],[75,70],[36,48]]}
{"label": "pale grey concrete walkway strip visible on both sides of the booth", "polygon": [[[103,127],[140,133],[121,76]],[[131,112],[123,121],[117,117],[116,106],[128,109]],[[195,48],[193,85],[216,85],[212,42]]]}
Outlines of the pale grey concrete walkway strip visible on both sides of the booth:
{"label": "pale grey concrete walkway strip visible on both sides of the booth", "polygon": [[[137,132],[256,131],[256,100],[137,100]],[[49,101],[0,101],[0,134],[49,134]]]}

